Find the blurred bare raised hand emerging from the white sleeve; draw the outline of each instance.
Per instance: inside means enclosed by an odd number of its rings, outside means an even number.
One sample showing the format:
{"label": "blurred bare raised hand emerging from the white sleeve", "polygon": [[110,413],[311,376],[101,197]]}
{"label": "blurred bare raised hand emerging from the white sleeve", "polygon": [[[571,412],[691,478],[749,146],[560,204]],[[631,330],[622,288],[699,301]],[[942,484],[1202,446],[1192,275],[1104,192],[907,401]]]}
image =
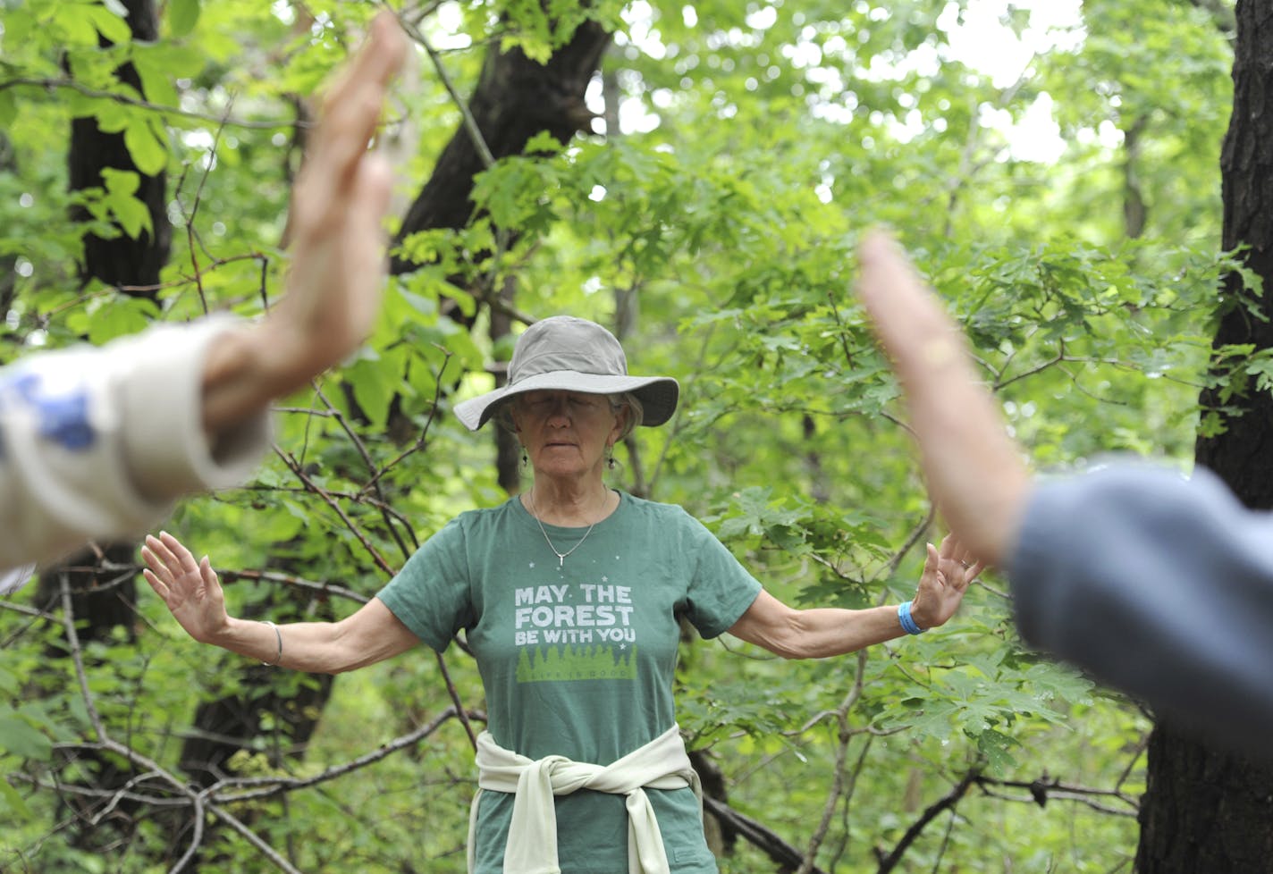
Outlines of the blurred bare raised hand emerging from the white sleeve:
{"label": "blurred bare raised hand emerging from the white sleeve", "polygon": [[304,387],[370,332],[384,285],[383,219],[392,186],[388,163],[368,146],[405,59],[406,39],[382,11],[327,90],[292,195],[286,294],[258,326],[227,335],[210,354],[207,431]]}

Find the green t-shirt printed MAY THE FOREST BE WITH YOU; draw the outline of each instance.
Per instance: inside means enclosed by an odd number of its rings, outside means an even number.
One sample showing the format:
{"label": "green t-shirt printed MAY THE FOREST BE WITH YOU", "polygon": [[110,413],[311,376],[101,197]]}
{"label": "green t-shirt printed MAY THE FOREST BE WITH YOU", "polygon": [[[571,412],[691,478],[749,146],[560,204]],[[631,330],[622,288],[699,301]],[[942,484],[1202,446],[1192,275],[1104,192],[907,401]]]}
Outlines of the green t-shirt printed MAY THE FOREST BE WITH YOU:
{"label": "green t-shirt printed MAY THE FOREST BE WITH YOU", "polygon": [[[588,531],[545,529],[559,552]],[[610,765],[675,723],[680,617],[715,637],[759,593],[760,583],[685,510],[620,492],[619,509],[564,562],[517,499],[463,513],[378,597],[439,653],[466,631],[499,746],[532,760]],[[645,791],[672,870],[714,873],[694,793]],[[477,874],[502,871],[512,812],[510,794],[482,793]],[[628,870],[621,795],[560,795],[556,817],[563,874]]]}

